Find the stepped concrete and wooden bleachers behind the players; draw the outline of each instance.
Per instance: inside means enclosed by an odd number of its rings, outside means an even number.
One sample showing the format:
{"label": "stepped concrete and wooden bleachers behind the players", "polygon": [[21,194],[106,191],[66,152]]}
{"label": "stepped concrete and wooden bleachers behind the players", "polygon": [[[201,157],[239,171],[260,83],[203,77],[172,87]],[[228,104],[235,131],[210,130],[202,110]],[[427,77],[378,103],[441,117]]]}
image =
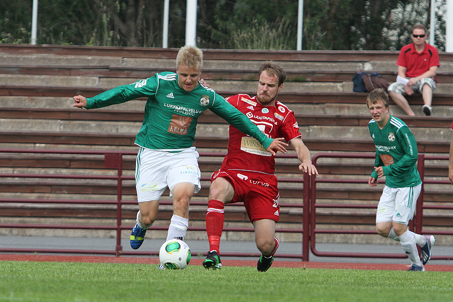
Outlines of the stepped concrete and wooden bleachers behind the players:
{"label": "stepped concrete and wooden bleachers behind the players", "polygon": [[[0,44],[0,148],[50,148],[50,149],[115,149],[135,150],[134,137],[138,131],[145,100],[133,100],[125,104],[97,110],[72,108],[72,96],[82,94],[90,97],[117,85],[130,84],[147,78],[155,72],[174,70],[178,49],[144,49],[115,47],[77,46],[28,46]],[[202,76],[211,88],[223,96],[237,92],[254,95],[261,61],[273,59],[287,71],[278,100],[294,110],[300,132],[312,154],[321,151],[373,152],[372,140],[367,133],[370,119],[364,105],[366,94],[352,92],[352,77],[358,70],[378,71],[388,81],[396,77],[395,51],[232,51],[205,50]],[[453,55],[441,53],[441,67],[437,80],[438,89],[433,99],[433,115],[421,113],[422,100],[411,97],[417,117],[408,117],[396,105],[391,113],[401,117],[414,132],[421,153],[447,155],[451,141],[451,117],[453,116]],[[228,142],[228,124],[216,115],[206,112],[199,119],[195,145],[200,152],[225,152]],[[203,176],[220,166],[221,157],[200,158]],[[126,173],[133,175],[134,159],[124,161]],[[320,162],[321,174],[336,177],[367,179],[372,161]],[[334,168],[333,168],[334,167]],[[112,173],[105,171],[102,159],[75,157],[59,159],[49,155],[35,155],[24,159],[11,154],[0,154],[0,171],[61,173]],[[53,171],[53,172],[52,172]],[[20,172],[18,172],[20,173]],[[279,159],[278,177],[301,179],[295,161]],[[443,178],[447,175],[445,161],[427,163],[425,176]],[[208,182],[194,197],[207,201]],[[109,198],[115,184],[99,181],[96,184],[82,182],[80,186],[71,181],[48,180],[39,185],[32,180],[6,179],[0,185],[0,197],[14,198]],[[341,192],[339,191],[341,190]],[[375,203],[382,188],[367,185],[321,186],[317,191],[320,200],[361,200]],[[283,203],[301,202],[301,185],[282,184]],[[426,187],[430,202],[449,202],[453,192],[432,185]],[[52,195],[53,194],[53,195]],[[135,189],[130,182],[123,194],[133,200]],[[167,200],[168,197],[167,197]],[[1,201],[0,201],[1,203]],[[114,208],[109,206],[80,207],[41,204],[24,211],[21,204],[1,203],[0,219],[10,217],[68,218],[114,217]],[[65,209],[65,210],[64,210]],[[162,219],[168,219],[170,207],[163,207]],[[233,207],[232,207],[233,209]],[[125,209],[124,218],[133,223],[136,207]],[[300,224],[301,210],[283,209],[283,225]],[[325,224],[360,221],[373,224],[371,211],[345,212],[320,210],[319,222]],[[205,206],[192,206],[193,225],[202,225]],[[442,216],[443,217],[443,216]],[[437,219],[436,219],[437,218]],[[448,225],[451,213],[439,218],[438,212],[427,212],[427,225]],[[248,221],[241,209],[232,210],[227,223]],[[163,223],[163,222],[162,222]],[[200,235],[197,235],[200,236]],[[287,236],[287,240],[291,240]]]}

